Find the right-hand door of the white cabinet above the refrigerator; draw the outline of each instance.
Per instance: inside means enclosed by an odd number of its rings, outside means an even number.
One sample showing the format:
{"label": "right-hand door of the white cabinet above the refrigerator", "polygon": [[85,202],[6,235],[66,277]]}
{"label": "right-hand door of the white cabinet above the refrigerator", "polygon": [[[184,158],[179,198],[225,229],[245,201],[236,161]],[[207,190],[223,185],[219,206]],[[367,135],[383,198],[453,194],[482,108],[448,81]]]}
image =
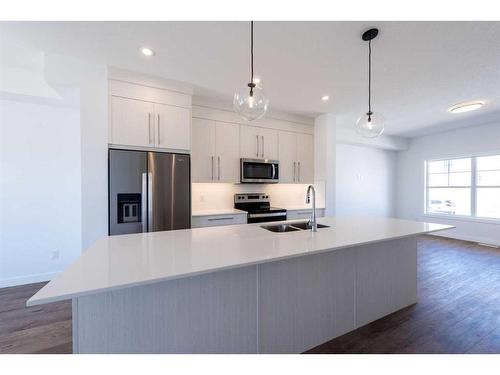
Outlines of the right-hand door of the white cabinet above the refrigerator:
{"label": "right-hand door of the white cabinet above the refrigerator", "polygon": [[155,104],[156,147],[174,150],[191,149],[191,110]]}

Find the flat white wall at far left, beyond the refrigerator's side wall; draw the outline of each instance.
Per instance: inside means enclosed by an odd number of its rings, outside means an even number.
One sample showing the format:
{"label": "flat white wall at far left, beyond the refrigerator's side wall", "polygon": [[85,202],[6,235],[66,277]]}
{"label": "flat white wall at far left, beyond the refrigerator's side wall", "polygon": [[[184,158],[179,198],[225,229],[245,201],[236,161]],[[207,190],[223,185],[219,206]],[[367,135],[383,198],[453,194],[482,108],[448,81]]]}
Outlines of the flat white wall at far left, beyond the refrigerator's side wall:
{"label": "flat white wall at far left, beyond the refrigerator's side wall", "polygon": [[0,287],[47,280],[81,251],[80,111],[0,100]]}

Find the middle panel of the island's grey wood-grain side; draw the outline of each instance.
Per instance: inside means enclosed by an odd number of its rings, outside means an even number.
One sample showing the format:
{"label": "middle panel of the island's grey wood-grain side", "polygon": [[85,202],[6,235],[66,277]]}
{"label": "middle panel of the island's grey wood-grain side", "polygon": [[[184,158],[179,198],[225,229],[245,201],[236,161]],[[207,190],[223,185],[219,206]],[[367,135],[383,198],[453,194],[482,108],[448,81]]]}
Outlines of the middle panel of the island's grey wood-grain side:
{"label": "middle panel of the island's grey wood-grain side", "polygon": [[301,353],[355,328],[353,249],[259,266],[261,353]]}

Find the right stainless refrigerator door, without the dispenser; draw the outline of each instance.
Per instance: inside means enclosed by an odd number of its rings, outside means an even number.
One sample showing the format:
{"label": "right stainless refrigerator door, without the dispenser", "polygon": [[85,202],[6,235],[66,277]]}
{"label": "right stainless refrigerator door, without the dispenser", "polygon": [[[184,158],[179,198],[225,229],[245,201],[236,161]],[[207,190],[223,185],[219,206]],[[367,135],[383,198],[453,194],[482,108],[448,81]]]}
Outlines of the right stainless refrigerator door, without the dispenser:
{"label": "right stainless refrigerator door, without the dispenser", "polygon": [[148,153],[148,229],[191,228],[190,157]]}

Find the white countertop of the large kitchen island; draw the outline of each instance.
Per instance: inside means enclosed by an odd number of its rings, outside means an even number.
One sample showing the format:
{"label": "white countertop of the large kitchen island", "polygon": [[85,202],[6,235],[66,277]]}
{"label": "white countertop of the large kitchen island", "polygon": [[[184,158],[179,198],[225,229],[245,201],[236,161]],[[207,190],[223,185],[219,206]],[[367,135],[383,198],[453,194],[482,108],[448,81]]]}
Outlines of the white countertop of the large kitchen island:
{"label": "white countertop of the large kitchen island", "polygon": [[262,224],[242,224],[105,237],[28,305],[453,228],[376,217],[324,217],[318,222],[331,227],[316,233],[273,233]]}

